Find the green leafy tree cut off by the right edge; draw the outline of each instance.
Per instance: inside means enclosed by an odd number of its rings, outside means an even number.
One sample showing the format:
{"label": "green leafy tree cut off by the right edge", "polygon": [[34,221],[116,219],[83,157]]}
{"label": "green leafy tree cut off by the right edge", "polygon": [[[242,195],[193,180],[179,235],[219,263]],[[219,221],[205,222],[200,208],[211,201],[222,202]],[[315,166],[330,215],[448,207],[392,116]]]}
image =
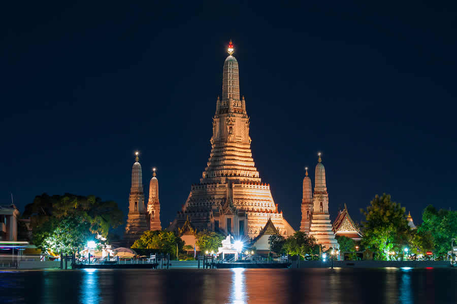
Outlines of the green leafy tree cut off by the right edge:
{"label": "green leafy tree cut off by the right edge", "polygon": [[444,257],[450,251],[451,239],[457,238],[457,212],[444,209],[437,211],[429,205],[422,213],[422,221],[417,232],[422,235],[430,233],[428,238],[433,240],[435,255]]}

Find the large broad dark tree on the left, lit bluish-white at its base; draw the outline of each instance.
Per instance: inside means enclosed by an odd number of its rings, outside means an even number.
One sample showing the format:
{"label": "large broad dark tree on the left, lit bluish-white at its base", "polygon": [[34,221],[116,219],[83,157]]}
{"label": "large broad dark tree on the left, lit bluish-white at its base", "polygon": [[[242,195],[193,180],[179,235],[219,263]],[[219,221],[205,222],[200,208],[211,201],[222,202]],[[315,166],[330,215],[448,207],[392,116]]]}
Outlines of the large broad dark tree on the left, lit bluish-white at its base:
{"label": "large broad dark tree on the left, lit bluish-white at its base", "polygon": [[123,214],[116,202],[93,195],[45,193],[25,206],[22,217],[30,218],[32,242],[37,247],[52,251],[61,248],[71,253],[94,239],[93,234],[107,238],[110,229],[122,224]]}

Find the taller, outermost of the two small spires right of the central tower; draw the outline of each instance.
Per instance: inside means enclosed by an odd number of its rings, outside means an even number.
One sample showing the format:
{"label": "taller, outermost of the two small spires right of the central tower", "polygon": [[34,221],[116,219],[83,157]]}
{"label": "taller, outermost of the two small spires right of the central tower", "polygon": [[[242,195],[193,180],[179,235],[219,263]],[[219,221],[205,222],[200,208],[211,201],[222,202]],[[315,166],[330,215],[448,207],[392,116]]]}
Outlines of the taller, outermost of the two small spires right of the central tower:
{"label": "taller, outermost of the two small spires right of the central tower", "polygon": [[335,234],[330,223],[329,193],[325,184],[325,168],[320,153],[318,155],[319,159],[314,176],[314,208],[309,234],[316,239],[318,244],[322,245],[324,250],[328,250],[330,247],[336,249],[339,248],[339,245],[335,240]]}

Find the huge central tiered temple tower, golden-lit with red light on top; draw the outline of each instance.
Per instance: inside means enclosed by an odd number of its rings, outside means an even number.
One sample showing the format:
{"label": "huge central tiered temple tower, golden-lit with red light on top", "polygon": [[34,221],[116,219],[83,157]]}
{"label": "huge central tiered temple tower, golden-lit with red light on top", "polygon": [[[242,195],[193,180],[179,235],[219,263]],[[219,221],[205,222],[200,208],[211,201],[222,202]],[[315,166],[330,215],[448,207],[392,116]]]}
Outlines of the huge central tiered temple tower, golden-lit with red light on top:
{"label": "huge central tiered temple tower, golden-lit with red light on top", "polygon": [[270,185],[261,183],[250,149],[249,117],[240,98],[238,61],[232,42],[223,66],[222,99],[217,97],[211,153],[200,183],[192,185],[182,210],[169,230],[184,225],[187,217],[198,230],[255,238],[268,219],[282,235],[293,228],[278,211]]}

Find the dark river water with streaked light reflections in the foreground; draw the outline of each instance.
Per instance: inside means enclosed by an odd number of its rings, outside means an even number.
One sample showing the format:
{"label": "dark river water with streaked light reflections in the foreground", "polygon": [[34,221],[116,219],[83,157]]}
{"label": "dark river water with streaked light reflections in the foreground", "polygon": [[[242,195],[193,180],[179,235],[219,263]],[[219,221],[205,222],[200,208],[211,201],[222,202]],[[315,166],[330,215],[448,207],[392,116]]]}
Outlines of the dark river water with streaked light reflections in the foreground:
{"label": "dark river water with streaked light reflections in the foreground", "polygon": [[456,303],[456,268],[0,272],[1,303]]}

